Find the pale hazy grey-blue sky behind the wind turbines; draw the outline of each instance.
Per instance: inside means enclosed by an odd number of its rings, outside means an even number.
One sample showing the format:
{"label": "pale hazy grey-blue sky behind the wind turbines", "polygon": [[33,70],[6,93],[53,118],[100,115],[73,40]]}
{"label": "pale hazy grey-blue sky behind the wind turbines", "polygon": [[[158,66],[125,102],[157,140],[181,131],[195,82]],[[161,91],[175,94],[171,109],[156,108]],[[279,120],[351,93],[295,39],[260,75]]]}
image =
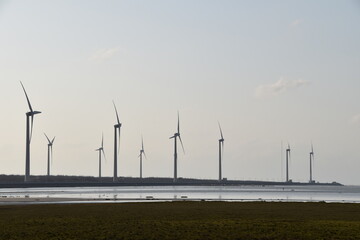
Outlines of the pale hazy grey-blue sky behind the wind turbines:
{"label": "pale hazy grey-blue sky behind the wind turbines", "polygon": [[35,116],[31,174],[98,174],[101,133],[113,167],[112,100],[120,115],[118,172],[360,184],[359,1],[0,0],[0,174],[24,174],[25,112]]}

